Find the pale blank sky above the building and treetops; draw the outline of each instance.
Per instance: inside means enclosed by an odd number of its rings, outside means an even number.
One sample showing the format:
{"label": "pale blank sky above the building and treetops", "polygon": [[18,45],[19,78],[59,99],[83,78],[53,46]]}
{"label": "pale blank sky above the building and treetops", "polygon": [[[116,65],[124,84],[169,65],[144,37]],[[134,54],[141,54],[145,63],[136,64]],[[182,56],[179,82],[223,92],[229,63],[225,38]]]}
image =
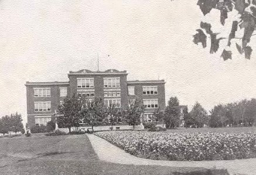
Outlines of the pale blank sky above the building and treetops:
{"label": "pale blank sky above the building and treetops", "polygon": [[221,27],[217,10],[204,17],[196,3],[0,1],[0,116],[18,111],[26,120],[26,81],[68,81],[68,71],[95,71],[97,53],[101,71],[165,79],[166,102],[178,96],[189,108],[199,101],[210,110],[214,104],[256,97],[256,37],[251,60],[234,54],[224,62],[221,51],[209,54],[210,47],[192,42],[200,20],[214,21],[216,32],[229,33],[230,27]]}

